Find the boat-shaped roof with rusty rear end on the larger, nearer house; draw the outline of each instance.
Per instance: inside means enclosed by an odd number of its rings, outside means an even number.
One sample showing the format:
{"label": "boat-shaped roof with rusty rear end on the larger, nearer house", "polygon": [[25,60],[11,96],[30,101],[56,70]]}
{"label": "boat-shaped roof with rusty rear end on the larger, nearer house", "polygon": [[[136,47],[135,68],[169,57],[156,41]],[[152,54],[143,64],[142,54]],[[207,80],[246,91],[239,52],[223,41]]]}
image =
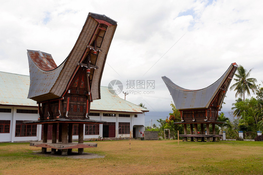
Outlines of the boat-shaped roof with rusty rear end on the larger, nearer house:
{"label": "boat-shaped roof with rusty rear end on the larger, nearer house", "polygon": [[[106,29],[99,27],[99,24],[105,24]],[[62,97],[80,67],[78,63],[83,61],[86,56],[85,51],[94,42],[94,36],[98,35],[97,45],[100,52],[97,56],[91,57],[91,64],[98,68],[92,72],[90,81],[92,99],[100,99],[100,82],[116,27],[117,22],[109,17],[89,13],[73,49],[59,66],[56,65],[50,54],[28,50],[30,72],[28,98],[44,101]]]}

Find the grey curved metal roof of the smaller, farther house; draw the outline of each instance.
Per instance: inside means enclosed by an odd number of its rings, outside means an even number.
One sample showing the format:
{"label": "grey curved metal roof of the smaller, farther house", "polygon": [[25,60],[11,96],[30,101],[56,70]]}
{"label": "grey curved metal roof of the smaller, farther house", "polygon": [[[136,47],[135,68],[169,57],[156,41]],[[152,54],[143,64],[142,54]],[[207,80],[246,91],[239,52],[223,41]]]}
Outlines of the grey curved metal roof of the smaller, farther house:
{"label": "grey curved metal roof of the smaller, farther house", "polygon": [[[166,76],[163,76],[162,79],[169,89],[176,109],[186,110],[209,108],[212,100],[216,97],[219,90],[222,90],[222,88],[226,90],[228,89],[237,67],[236,63],[232,63],[224,75],[222,75],[216,82],[204,89],[198,90],[189,90],[177,86]],[[225,92],[221,94],[219,108],[221,108],[223,103]]]}

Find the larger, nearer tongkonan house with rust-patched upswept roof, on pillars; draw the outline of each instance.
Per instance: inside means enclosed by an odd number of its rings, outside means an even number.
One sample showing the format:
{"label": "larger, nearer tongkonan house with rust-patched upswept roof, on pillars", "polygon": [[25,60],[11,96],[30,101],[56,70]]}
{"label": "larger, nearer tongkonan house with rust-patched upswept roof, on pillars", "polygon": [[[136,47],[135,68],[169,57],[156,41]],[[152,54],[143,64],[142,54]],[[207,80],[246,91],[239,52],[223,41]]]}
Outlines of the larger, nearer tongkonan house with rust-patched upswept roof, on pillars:
{"label": "larger, nearer tongkonan house with rust-patched upswept roof, on pillars", "polygon": [[[117,22],[109,17],[89,13],[73,49],[59,66],[50,54],[28,50],[28,98],[37,101],[39,119],[25,123],[43,124],[43,143],[32,142],[31,146],[42,147],[43,152],[58,149],[62,155],[72,148],[83,153],[83,148],[97,147],[83,143],[83,124],[103,123],[88,115],[91,102],[101,98],[102,73],[116,27]],[[48,124],[52,124],[52,143],[47,142]],[[72,142],[73,124],[78,124],[78,143]]]}

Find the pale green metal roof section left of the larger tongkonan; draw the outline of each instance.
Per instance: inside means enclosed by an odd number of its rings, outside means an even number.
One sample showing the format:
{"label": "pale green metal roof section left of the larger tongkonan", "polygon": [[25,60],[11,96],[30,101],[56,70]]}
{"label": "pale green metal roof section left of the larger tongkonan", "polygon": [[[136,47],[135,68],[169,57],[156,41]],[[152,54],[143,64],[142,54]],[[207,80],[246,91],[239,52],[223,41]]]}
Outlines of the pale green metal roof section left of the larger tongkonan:
{"label": "pale green metal roof section left of the larger tongkonan", "polygon": [[28,99],[29,76],[0,72],[0,105],[37,106]]}

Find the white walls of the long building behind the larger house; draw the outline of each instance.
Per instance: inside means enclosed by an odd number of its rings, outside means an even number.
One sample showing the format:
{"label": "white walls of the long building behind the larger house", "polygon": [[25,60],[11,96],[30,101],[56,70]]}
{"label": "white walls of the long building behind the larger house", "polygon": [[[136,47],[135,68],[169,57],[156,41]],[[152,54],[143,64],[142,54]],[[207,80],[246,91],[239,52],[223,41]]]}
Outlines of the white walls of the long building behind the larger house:
{"label": "white walls of the long building behind the larger house", "polygon": [[[0,120],[10,120],[10,133],[0,133],[0,142],[14,142],[14,141],[30,141],[30,140],[41,140],[41,129],[42,125],[37,125],[37,135],[34,137],[15,137],[16,129],[16,120],[38,120],[39,114],[22,114],[16,113],[17,109],[31,109],[37,110],[37,108],[25,108],[25,107],[4,107],[0,108],[9,108],[11,113],[0,112]],[[100,113],[100,116],[89,116],[92,120],[102,120],[106,122],[115,122],[116,124],[116,136],[119,137],[130,137],[130,134],[119,134],[118,126],[119,122],[129,122],[131,136],[133,136],[133,127],[135,127],[136,137],[143,137],[140,134],[139,130],[144,132],[144,112],[137,114],[137,117],[134,117],[134,113],[119,113],[119,112],[106,112],[106,111],[91,111],[95,113]],[[104,117],[103,113],[113,113],[116,114],[116,117]],[[119,114],[130,114],[130,117],[119,117]],[[102,137],[102,124],[100,124],[99,135],[85,135],[85,125],[84,125],[84,139],[89,138],[98,138]],[[72,136],[73,139],[78,139],[78,136]]]}

